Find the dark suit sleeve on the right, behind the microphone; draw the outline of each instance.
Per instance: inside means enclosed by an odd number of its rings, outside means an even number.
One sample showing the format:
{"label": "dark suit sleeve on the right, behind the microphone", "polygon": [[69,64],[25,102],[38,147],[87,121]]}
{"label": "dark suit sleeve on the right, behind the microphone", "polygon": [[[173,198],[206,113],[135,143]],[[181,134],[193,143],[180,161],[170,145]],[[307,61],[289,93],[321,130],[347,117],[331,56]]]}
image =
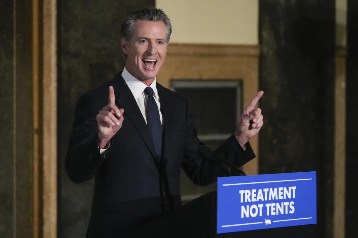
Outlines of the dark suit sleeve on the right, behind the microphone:
{"label": "dark suit sleeve on the right, behind the microphone", "polygon": [[[207,186],[216,181],[217,177],[225,177],[225,173],[213,164],[200,157],[197,153],[199,145],[204,145],[198,139],[197,130],[195,129],[194,121],[187,103],[187,137],[182,162],[182,168],[193,183],[200,186]],[[228,160],[237,167],[242,166],[251,159],[255,158],[255,153],[252,151],[250,143],[246,143],[246,151],[236,141],[234,134],[232,134],[221,146],[215,151],[220,157]]]}

